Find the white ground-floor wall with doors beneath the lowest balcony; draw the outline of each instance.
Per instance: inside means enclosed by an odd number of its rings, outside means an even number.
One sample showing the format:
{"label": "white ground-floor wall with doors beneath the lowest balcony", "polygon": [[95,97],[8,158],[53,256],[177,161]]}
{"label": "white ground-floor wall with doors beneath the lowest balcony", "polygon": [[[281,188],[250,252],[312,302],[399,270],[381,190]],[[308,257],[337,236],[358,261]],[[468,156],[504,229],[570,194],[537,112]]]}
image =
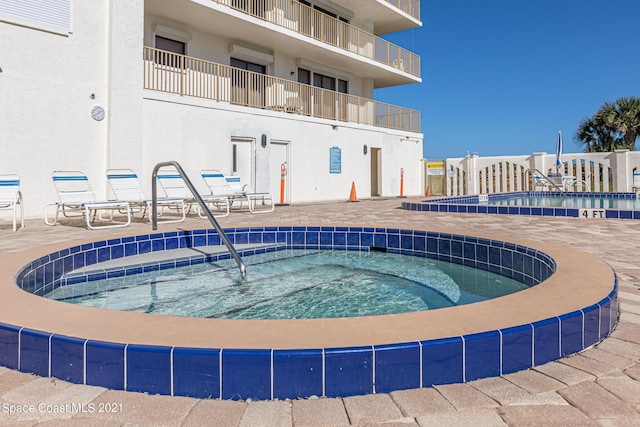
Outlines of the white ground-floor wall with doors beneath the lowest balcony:
{"label": "white ground-floor wall with doors beneath the lowest balcony", "polygon": [[[151,91],[145,92],[143,117],[143,169],[148,175],[155,164],[168,160],[181,163],[189,175],[198,178],[194,181],[199,181],[202,169],[229,173],[232,138],[254,139],[256,190],[269,191],[274,183],[269,181],[268,168],[279,167],[279,163],[269,165],[270,146],[260,146],[265,134],[269,141],[290,144],[287,185],[291,203],[346,200],[352,182],[359,198],[370,197],[372,148],[381,149],[381,196],[400,195],[401,168],[404,195],[423,193],[420,135]],[[365,144],[367,155],[363,154]],[[329,173],[329,152],[334,146],[342,154],[339,174]]]}

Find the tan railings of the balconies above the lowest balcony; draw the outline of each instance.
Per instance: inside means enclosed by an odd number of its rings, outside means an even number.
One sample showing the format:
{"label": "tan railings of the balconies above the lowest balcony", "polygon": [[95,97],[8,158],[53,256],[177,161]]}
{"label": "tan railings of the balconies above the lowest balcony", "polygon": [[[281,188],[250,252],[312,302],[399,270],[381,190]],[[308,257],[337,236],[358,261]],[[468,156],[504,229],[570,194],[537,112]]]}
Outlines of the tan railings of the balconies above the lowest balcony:
{"label": "tan railings of the balconies above the lowest balcony", "polygon": [[[420,57],[360,28],[291,0],[212,0],[323,43],[373,59],[420,77]],[[387,0],[404,8],[411,0]]]}

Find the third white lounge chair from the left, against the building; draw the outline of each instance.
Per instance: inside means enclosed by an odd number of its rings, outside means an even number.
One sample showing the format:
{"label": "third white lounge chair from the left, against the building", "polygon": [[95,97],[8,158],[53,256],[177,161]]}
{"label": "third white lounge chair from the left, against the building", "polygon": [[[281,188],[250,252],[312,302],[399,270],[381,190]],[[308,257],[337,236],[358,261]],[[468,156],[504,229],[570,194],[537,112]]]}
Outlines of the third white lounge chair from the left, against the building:
{"label": "third white lounge chair from the left, against the building", "polygon": [[[147,211],[151,212],[152,200],[148,198],[142,189],[142,184],[138,175],[131,169],[109,169],[107,171],[107,180],[113,190],[117,200],[125,200],[131,206],[131,213],[141,212],[144,218]],[[156,199],[158,210],[174,209],[178,212],[177,219],[164,220],[165,224],[184,221],[187,215],[187,209],[182,199]],[[149,216],[151,221],[151,216]]]}

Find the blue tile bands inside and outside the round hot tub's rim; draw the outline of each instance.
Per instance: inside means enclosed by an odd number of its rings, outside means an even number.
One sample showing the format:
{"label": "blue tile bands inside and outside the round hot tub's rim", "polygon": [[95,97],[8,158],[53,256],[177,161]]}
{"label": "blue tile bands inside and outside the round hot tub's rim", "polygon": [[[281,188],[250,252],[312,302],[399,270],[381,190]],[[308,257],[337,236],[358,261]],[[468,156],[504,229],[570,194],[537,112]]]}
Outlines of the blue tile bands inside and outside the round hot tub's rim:
{"label": "blue tile bands inside and outside the round hot tub's rim", "polygon": [[[236,243],[252,239],[264,243],[266,236],[267,243],[286,243],[295,248],[376,246],[414,255],[421,252],[512,275],[516,274],[515,266],[521,266],[517,274],[530,281],[542,279],[544,268],[553,265],[550,257],[532,248],[420,230],[261,227],[233,229],[230,235]],[[215,243],[215,239],[219,244],[214,231],[197,230],[94,242],[35,260],[29,265],[33,273],[23,269],[17,278],[28,290],[44,291],[62,274],[79,268],[74,263],[80,263],[80,258],[87,265],[134,255],[134,246],[136,252],[166,250],[183,244],[204,246]],[[533,261],[525,267],[521,263],[525,256],[537,259],[537,267]],[[510,261],[503,265],[503,259]],[[150,346],[82,340],[2,324],[0,363],[75,383],[193,397],[271,399],[380,393],[498,376],[589,347],[608,335],[618,317],[617,286],[613,283],[611,287],[606,298],[590,306],[531,324],[358,347],[274,350]]]}

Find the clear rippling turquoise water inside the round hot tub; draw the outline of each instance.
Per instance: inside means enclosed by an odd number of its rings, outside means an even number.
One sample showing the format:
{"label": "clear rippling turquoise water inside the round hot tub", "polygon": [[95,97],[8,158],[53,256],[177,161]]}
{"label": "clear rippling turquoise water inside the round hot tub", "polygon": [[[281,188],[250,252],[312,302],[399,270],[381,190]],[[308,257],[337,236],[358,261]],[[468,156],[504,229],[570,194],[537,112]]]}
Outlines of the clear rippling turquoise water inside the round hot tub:
{"label": "clear rippling turquoise water inside the round hot tub", "polygon": [[90,307],[201,318],[301,319],[433,310],[527,288],[488,271],[381,252],[282,250],[235,261],[63,286],[46,297]]}

